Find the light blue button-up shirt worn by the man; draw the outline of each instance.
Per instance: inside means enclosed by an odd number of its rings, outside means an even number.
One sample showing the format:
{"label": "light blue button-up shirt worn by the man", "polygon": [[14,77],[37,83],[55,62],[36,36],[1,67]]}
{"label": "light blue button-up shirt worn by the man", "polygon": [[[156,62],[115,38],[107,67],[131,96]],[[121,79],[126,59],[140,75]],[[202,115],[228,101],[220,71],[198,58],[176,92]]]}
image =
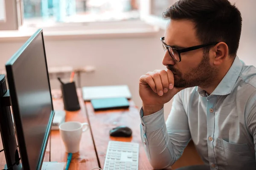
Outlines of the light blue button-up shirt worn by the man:
{"label": "light blue button-up shirt worn by the man", "polygon": [[199,87],[176,94],[166,122],[163,108],[140,114],[141,138],[154,169],[174,164],[192,139],[211,170],[256,170],[256,68],[238,57],[209,96]]}

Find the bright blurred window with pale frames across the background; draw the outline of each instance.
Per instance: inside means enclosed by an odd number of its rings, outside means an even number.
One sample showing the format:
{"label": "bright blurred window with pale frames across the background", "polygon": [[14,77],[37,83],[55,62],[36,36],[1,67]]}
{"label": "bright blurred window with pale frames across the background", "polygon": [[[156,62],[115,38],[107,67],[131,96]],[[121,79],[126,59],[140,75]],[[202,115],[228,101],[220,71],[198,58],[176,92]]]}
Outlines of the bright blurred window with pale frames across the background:
{"label": "bright blurred window with pale frames across the background", "polygon": [[[165,28],[166,21],[162,19],[162,13],[175,1],[0,0],[0,30],[17,30],[21,25],[25,30],[29,27],[70,29],[87,26],[86,23],[97,23],[93,26],[105,29],[103,25],[107,23],[134,20]],[[122,25],[121,22],[119,25]],[[114,26],[118,27],[118,24]]]}

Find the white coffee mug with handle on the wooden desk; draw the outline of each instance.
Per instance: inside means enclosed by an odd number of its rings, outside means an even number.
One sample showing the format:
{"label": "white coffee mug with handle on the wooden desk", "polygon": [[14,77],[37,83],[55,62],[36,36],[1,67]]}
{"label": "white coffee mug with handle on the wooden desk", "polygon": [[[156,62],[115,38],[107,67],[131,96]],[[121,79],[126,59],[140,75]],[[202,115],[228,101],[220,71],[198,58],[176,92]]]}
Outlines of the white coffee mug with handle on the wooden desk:
{"label": "white coffee mug with handle on the wooden desk", "polygon": [[88,128],[88,123],[80,122],[64,122],[59,125],[61,139],[64,142],[67,153],[79,152],[82,133],[88,130]]}

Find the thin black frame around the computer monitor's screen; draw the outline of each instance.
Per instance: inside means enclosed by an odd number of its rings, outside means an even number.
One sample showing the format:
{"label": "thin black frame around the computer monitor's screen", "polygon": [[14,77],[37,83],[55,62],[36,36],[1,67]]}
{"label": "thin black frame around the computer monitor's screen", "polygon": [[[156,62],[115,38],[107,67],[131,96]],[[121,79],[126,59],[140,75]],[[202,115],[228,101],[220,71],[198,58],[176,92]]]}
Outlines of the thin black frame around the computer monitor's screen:
{"label": "thin black frame around the computer monitor's screen", "polygon": [[[30,38],[27,40],[24,45],[9,59],[9,61],[6,62],[6,73],[7,73],[7,80],[8,80],[8,85],[9,85],[9,91],[11,95],[11,100],[12,100],[12,111],[13,113],[13,118],[15,122],[15,129],[16,129],[16,136],[17,136],[17,142],[19,146],[19,151],[20,151],[20,157],[22,161],[22,167],[23,169],[29,170],[29,160],[28,160],[28,155],[26,151],[26,144],[25,144],[25,139],[24,139],[24,133],[23,133],[23,128],[22,128],[22,122],[21,122],[21,117],[20,117],[20,111],[18,107],[18,101],[17,101],[17,95],[16,95],[16,89],[15,89],[15,81],[14,81],[14,76],[13,76],[13,69],[12,65],[17,61],[17,59],[20,57],[20,55],[29,47],[31,43],[35,41],[35,39],[38,36],[42,36],[42,41],[43,41],[43,46],[44,46],[44,36],[43,36],[43,30],[38,29]],[[46,70],[47,70],[47,79],[48,79],[48,85],[49,85],[49,92],[50,96],[52,99],[52,94],[51,94],[51,87],[50,87],[50,82],[49,82],[49,74],[48,74],[48,67],[47,67],[47,59],[46,59],[46,53],[45,53],[45,46],[44,48],[44,58],[45,58],[45,64],[46,64]],[[54,117],[55,111],[53,110],[53,105],[52,105],[52,111],[49,117],[49,122],[47,125],[47,133],[44,137],[44,143],[43,147],[41,150],[41,155],[40,159],[38,161],[37,165],[37,170],[41,170],[43,160],[44,160],[44,154],[46,151],[48,139],[50,136],[51,132],[51,125],[52,125],[52,120]]]}

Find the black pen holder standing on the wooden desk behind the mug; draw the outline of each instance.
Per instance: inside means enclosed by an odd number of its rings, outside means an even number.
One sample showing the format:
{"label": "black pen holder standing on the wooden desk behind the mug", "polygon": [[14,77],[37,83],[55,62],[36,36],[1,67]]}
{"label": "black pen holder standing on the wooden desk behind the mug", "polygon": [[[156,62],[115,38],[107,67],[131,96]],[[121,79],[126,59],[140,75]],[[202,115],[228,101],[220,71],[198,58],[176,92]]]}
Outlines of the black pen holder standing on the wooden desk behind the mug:
{"label": "black pen holder standing on the wooden desk behind the mug", "polygon": [[61,92],[66,111],[77,111],[80,109],[75,82],[62,83]]}

